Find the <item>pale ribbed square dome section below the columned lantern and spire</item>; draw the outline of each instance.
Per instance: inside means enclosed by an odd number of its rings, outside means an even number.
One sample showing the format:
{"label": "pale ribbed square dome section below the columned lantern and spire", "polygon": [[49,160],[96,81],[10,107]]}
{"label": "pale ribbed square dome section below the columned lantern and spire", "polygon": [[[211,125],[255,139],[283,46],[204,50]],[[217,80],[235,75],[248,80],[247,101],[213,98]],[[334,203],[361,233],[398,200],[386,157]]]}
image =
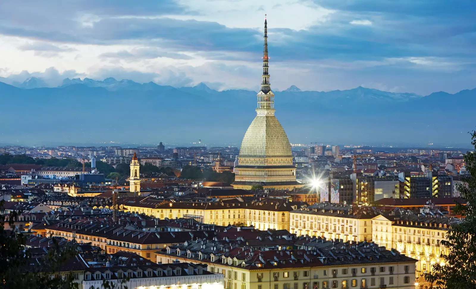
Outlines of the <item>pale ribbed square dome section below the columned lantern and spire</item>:
{"label": "pale ribbed square dome section below the columned lantern and spire", "polygon": [[274,115],[257,115],[243,137],[240,157],[292,157],[288,136]]}

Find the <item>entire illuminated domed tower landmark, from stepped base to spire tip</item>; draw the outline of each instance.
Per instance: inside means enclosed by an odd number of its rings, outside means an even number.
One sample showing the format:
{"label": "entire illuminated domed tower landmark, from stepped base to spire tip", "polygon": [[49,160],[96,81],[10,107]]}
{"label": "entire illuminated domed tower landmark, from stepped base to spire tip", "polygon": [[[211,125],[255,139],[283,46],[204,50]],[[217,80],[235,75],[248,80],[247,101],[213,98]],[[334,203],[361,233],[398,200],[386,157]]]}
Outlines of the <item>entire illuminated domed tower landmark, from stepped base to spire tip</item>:
{"label": "entire illuminated domed tower landmark, from stepped base to spire tip", "polygon": [[268,72],[268,23],[265,19],[263,74],[258,92],[257,116],[243,137],[238,165],[235,166],[235,189],[292,190],[303,184],[296,181],[291,144],[283,127],[274,116],[274,94],[269,85]]}

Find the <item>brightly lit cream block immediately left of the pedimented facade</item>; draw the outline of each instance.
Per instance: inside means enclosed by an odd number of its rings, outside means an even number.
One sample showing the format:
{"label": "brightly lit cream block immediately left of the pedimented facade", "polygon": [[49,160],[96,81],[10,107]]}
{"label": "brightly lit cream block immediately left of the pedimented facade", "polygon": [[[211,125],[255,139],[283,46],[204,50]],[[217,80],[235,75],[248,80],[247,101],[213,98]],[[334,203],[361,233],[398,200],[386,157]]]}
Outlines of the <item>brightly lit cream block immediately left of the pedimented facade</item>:
{"label": "brightly lit cream block immediately left of the pedimented facade", "polygon": [[329,202],[289,212],[289,231],[344,241],[372,240],[372,218],[380,213],[372,207],[353,207]]}

